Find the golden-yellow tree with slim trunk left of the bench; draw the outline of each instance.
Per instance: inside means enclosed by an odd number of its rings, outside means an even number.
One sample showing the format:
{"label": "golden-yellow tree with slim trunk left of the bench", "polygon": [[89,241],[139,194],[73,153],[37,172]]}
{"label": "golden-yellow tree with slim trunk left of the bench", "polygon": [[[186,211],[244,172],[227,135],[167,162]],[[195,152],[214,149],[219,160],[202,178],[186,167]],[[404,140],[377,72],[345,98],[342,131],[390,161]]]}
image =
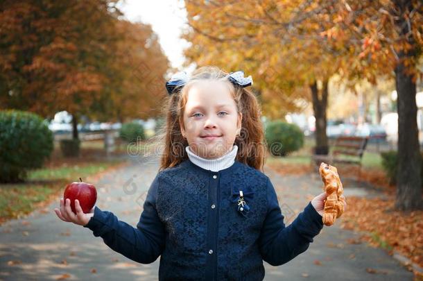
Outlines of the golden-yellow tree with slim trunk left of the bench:
{"label": "golden-yellow tree with slim trunk left of the bench", "polygon": [[[328,152],[328,83],[347,66],[345,49],[330,30],[338,7],[334,1],[185,1],[192,43],[186,55],[200,65],[242,67],[258,81],[263,107],[295,110],[308,99],[316,117],[316,153]],[[308,91],[304,91],[307,85]],[[286,106],[288,105],[288,106]]]}

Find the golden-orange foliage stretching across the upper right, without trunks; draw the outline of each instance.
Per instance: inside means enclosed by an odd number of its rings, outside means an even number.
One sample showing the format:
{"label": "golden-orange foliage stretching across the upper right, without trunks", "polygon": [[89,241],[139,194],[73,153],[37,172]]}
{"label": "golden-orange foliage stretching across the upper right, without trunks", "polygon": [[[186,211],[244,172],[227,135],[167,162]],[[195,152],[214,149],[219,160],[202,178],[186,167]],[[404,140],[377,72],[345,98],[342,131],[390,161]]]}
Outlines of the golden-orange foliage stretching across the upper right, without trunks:
{"label": "golden-orange foliage stretching across the upper right, without trunks", "polygon": [[[375,82],[392,75],[394,50],[407,48],[392,26],[393,2],[185,0],[189,29],[184,38],[191,42],[185,55],[188,63],[252,74],[264,112],[283,116],[301,109],[292,101],[309,99],[307,91],[294,89],[314,80],[340,74]],[[409,18],[421,46],[422,4],[413,3]]]}

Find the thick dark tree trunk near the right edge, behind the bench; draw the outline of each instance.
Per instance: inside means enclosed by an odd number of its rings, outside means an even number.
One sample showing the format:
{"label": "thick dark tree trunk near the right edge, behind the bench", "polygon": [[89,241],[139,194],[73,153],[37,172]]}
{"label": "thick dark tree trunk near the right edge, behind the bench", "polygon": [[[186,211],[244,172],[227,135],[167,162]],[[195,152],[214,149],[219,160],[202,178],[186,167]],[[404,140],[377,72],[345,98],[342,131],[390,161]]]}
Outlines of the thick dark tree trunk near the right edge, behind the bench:
{"label": "thick dark tree trunk near the right edge, behind the bench", "polygon": [[396,1],[396,3],[399,17],[395,24],[400,34],[406,38],[408,44],[411,44],[412,49],[398,53],[397,67],[395,67],[398,108],[398,171],[395,207],[399,210],[417,210],[422,208],[420,178],[422,163],[417,129],[416,85],[411,74],[414,66],[409,63],[415,56],[416,45],[412,36],[406,36],[409,32],[406,11],[411,10],[411,1]]}

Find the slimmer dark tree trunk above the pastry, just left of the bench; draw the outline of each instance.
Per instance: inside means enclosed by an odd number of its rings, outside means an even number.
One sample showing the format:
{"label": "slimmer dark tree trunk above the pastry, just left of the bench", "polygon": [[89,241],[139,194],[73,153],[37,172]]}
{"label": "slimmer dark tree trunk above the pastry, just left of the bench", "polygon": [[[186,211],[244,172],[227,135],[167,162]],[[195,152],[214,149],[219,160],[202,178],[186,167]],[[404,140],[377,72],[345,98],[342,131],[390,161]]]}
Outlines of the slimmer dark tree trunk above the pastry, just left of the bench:
{"label": "slimmer dark tree trunk above the pastry, just left of the bench", "polygon": [[320,97],[317,81],[310,85],[311,97],[313,100],[313,112],[314,117],[316,118],[316,148],[314,153],[321,155],[327,155],[327,153],[329,153],[326,135],[327,84],[328,80],[324,80],[322,82]]}

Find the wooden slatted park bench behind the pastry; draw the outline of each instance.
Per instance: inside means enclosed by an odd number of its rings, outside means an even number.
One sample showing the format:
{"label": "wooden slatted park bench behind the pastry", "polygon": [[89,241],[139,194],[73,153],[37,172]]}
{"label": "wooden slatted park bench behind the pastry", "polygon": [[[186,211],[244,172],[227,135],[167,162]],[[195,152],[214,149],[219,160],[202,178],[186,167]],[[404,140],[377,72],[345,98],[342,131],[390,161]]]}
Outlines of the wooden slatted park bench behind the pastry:
{"label": "wooden slatted park bench behind the pastry", "polygon": [[368,143],[367,137],[338,137],[335,140],[334,148],[329,155],[316,155],[313,153],[311,164],[319,169],[320,163],[325,162],[338,168],[338,164],[356,166],[359,169],[357,179],[361,177],[361,159]]}

